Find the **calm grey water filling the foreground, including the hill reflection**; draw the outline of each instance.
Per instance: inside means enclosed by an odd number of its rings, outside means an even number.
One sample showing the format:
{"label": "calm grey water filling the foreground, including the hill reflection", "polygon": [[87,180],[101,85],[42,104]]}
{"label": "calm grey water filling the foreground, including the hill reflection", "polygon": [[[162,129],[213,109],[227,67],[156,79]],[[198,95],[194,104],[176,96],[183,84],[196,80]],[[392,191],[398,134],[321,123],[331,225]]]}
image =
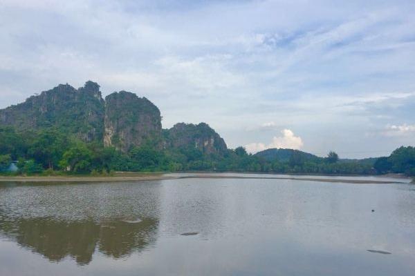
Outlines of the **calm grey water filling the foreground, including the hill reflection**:
{"label": "calm grey water filling the foreground, including the hill reflection", "polygon": [[414,271],[413,184],[0,184],[0,275]]}

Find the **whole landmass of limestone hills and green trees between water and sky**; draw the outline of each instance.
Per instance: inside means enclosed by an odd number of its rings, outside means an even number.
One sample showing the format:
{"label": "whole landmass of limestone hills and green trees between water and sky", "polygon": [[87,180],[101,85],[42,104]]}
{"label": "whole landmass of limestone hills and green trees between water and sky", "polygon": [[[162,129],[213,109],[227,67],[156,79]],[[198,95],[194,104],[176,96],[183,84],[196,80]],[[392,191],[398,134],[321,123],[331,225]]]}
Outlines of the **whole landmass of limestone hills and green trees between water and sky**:
{"label": "whole landmass of limestone hills and green trees between water and sky", "polygon": [[[15,174],[109,174],[114,171],[235,171],[337,175],[387,172],[415,175],[415,149],[389,157],[339,159],[291,149],[255,155],[229,149],[208,124],[179,123],[163,129],[160,110],[126,91],[102,98],[87,81],[34,95],[0,110],[0,172]],[[17,161],[17,172],[10,162]]]}

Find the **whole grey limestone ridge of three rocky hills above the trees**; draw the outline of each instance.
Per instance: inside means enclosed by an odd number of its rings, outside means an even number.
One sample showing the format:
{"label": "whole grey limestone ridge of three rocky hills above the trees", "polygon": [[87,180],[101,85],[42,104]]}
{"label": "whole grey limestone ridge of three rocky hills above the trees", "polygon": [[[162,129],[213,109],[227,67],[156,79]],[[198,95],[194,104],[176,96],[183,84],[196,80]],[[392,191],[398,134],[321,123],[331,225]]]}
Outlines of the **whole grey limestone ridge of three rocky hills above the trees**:
{"label": "whole grey limestone ridge of three rocky hills above the trees", "polygon": [[93,81],[78,89],[59,84],[0,110],[0,126],[12,126],[19,132],[56,128],[122,152],[147,142],[160,149],[196,148],[205,154],[223,155],[227,150],[225,141],[208,124],[180,123],[162,132],[160,110],[151,101],[126,91],[114,92],[104,100],[100,86]]}

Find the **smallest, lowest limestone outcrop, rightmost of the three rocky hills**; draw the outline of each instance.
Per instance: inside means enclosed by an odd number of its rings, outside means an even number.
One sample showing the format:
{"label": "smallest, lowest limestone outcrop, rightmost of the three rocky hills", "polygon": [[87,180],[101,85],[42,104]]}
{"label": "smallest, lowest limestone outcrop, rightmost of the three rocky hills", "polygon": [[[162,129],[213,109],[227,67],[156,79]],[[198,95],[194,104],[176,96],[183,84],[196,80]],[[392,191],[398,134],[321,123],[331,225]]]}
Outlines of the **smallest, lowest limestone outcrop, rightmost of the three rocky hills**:
{"label": "smallest, lowest limestone outcrop, rightmost of the three rocky hills", "polygon": [[227,150],[225,141],[205,123],[174,125],[167,132],[165,145],[172,148],[192,147],[205,154],[223,155]]}

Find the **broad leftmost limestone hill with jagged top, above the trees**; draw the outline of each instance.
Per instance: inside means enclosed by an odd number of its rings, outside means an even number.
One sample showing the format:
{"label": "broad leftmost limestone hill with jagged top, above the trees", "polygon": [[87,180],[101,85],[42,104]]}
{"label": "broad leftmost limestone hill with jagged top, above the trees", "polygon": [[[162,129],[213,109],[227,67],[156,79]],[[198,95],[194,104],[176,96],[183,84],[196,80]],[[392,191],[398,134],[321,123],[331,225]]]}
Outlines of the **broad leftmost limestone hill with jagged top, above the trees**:
{"label": "broad leftmost limestone hill with jagged top, above the trees", "polygon": [[75,89],[59,84],[24,103],[0,110],[0,125],[19,131],[57,128],[84,141],[102,139],[104,101],[98,83],[87,81]]}

